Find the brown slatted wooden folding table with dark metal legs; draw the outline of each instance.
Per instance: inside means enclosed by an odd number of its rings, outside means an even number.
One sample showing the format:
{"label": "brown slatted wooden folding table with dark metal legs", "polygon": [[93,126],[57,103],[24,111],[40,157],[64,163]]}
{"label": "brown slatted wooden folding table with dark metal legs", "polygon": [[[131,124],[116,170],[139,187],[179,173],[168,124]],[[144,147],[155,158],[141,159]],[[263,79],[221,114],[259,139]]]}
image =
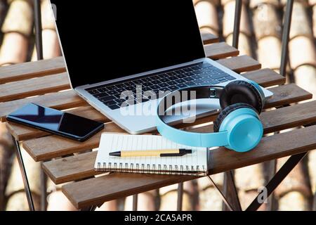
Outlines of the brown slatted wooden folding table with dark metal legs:
{"label": "brown slatted wooden folding table with dark metal legs", "polygon": [[[204,43],[212,43],[218,39],[211,36],[204,41]],[[217,60],[218,63],[235,72],[243,72],[244,77],[253,79],[274,93],[265,105],[266,109],[272,110],[266,110],[261,114],[265,134],[274,135],[265,136],[256,149],[247,153],[236,153],[225,148],[211,150],[209,174],[229,172],[232,169],[292,155],[268,183],[268,194],[270,194],[306,152],[316,148],[316,125],[310,125],[316,122],[316,101],[296,104],[312,98],[312,94],[296,84],[284,84],[284,77],[273,70],[261,69],[260,63],[249,56],[238,56],[239,51],[228,44],[223,42],[205,44],[205,50],[209,58]],[[88,141],[79,143],[20,124],[6,122],[6,115],[31,102],[104,122],[105,129]],[[16,140],[16,146],[19,146],[19,142],[22,143],[23,148],[35,161],[43,162],[44,172],[55,184],[74,181],[62,186],[62,192],[78,209],[91,210],[109,200],[197,178],[127,173],[111,173],[95,177],[100,174],[93,169],[97,152],[87,152],[87,150],[98,148],[102,132],[124,132],[124,130],[94,110],[70,89],[64,60],[61,57],[0,68],[0,118],[2,122],[6,122],[8,130]],[[197,120],[195,125],[213,121],[215,118],[210,116]],[[277,133],[292,127],[301,128]],[[213,126],[206,124],[199,128],[186,127],[186,129],[212,131]],[[20,148],[17,148],[17,153],[32,209],[32,198],[20,157]],[[225,197],[223,199],[229,202],[232,210],[241,210],[233,179],[228,179],[227,185],[229,192],[223,193]],[[248,210],[256,210],[259,206],[260,204],[254,200]]]}

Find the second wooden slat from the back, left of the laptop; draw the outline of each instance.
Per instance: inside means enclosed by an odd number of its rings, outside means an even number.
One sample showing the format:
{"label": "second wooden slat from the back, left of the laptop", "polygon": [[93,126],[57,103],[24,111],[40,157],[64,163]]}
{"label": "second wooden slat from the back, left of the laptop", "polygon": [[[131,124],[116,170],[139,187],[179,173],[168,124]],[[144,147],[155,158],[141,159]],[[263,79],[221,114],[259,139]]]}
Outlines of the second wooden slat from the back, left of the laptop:
{"label": "second wooden slat from the back, left of the laptop", "polygon": [[70,89],[67,73],[0,84],[0,102]]}

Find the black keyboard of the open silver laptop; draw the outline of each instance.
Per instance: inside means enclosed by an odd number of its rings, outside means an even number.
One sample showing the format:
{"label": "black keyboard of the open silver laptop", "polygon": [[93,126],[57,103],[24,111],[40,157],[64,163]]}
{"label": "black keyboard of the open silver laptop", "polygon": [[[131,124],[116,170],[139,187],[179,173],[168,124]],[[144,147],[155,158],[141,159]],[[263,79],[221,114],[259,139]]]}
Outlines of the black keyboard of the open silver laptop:
{"label": "black keyboard of the open silver laptop", "polygon": [[[120,108],[121,103],[126,101],[126,99],[121,99],[121,94],[124,91],[129,91],[129,93],[133,91],[133,96],[136,96],[136,93],[138,93],[136,86],[138,85],[141,85],[143,93],[144,91],[153,91],[157,95],[156,98],[158,98],[159,91],[175,91],[196,85],[218,85],[234,79],[236,78],[209,63],[198,63],[115,84],[93,86],[86,89],[86,91],[112,110],[115,110]],[[142,95],[142,98],[140,102],[134,98],[134,104],[150,101],[147,96]],[[131,100],[131,98],[128,99],[129,101]]]}

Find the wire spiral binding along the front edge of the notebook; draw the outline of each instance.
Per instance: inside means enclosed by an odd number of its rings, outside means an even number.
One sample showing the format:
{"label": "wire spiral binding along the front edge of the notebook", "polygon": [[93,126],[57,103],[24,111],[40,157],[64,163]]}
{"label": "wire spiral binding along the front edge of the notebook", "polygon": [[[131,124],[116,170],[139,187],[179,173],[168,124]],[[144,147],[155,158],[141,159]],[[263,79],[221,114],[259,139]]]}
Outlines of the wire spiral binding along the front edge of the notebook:
{"label": "wire spiral binding along the front edge of the notebook", "polygon": [[138,164],[133,163],[105,163],[101,165],[98,162],[98,172],[132,172],[132,173],[144,173],[144,174],[171,174],[171,175],[191,175],[200,176],[206,175],[206,168],[203,166],[200,169],[199,166],[173,166],[173,165],[150,165],[150,164]]}

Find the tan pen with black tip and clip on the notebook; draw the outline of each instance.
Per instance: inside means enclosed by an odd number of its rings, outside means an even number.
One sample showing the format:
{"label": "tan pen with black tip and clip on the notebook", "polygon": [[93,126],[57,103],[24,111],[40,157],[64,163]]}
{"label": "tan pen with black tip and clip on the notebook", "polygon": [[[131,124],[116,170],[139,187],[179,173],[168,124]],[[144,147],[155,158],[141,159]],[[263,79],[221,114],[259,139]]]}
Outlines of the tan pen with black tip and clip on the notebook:
{"label": "tan pen with black tip and clip on the notebook", "polygon": [[140,157],[140,156],[157,156],[157,157],[170,157],[170,156],[183,156],[191,154],[191,149],[161,149],[161,150],[121,150],[118,152],[109,153],[111,156],[118,157]]}

